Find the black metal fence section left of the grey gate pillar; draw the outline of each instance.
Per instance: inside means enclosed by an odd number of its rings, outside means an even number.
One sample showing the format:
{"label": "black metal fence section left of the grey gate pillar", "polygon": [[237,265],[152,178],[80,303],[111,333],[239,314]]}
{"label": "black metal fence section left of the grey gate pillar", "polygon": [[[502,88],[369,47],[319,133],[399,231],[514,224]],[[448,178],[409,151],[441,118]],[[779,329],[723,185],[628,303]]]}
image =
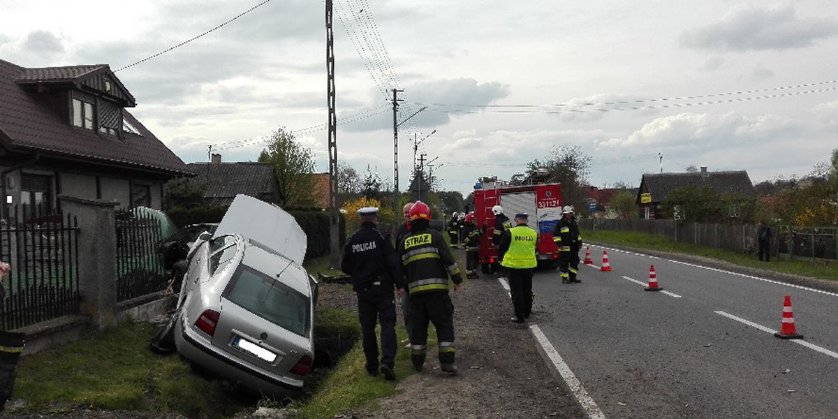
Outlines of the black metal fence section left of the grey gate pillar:
{"label": "black metal fence section left of the grey gate pillar", "polygon": [[13,209],[0,220],[0,261],[12,270],[3,281],[3,330],[79,313],[79,227],[70,215],[26,218]]}

